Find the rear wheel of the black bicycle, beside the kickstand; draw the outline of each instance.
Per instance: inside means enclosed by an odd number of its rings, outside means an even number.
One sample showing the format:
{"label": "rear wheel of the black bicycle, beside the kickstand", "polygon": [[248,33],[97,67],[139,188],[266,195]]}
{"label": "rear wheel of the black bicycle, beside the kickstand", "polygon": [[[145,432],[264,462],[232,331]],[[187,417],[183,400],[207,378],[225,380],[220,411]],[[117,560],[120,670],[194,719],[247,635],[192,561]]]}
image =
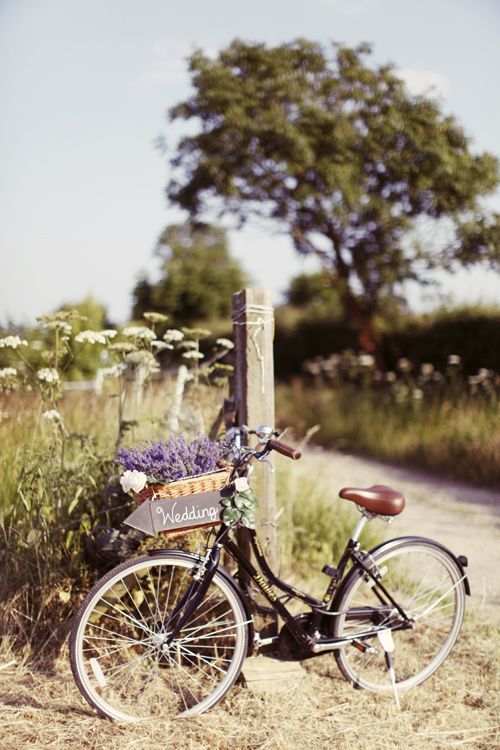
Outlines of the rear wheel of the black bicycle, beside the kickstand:
{"label": "rear wheel of the black bicycle, beside the kickstand", "polygon": [[[355,567],[339,592],[333,634],[371,630],[361,644],[335,652],[337,664],[355,687],[373,691],[406,690],[430,677],[458,638],[465,610],[464,574],[446,549],[426,539],[401,539],[370,553],[380,582],[411,619],[404,619],[373,579]],[[392,631],[395,685],[387,669],[377,630]],[[363,652],[362,647],[366,647]]]}

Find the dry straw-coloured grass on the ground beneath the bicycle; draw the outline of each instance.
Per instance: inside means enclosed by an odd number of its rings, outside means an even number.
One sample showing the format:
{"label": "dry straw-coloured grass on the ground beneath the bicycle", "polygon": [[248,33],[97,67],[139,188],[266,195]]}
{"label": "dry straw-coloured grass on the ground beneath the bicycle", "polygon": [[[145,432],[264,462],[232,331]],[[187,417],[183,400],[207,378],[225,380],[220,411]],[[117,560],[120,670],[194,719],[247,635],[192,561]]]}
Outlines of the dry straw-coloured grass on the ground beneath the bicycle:
{"label": "dry straw-coloured grass on the ground beneath the bicycle", "polygon": [[0,659],[0,747],[66,750],[436,750],[500,747],[498,628],[469,616],[455,651],[431,680],[391,697],[353,691],[329,655],[278,694],[242,686],[203,716],[142,725],[97,718],[80,698],[67,658],[5,666]]}

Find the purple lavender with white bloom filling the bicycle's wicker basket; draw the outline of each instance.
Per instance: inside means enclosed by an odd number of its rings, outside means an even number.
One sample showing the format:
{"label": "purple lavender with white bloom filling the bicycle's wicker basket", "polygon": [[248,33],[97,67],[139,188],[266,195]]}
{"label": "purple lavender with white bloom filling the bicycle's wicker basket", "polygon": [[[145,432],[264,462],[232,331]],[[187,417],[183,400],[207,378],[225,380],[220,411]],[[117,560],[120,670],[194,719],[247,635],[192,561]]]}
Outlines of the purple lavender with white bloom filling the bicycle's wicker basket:
{"label": "purple lavender with white bloom filling the bicycle's wicker basket", "polygon": [[[138,492],[146,482],[174,482],[184,477],[216,471],[227,451],[221,442],[210,440],[206,435],[186,442],[184,435],[171,437],[167,442],[144,443],[139,448],[122,448],[116,456],[124,467],[124,477],[134,474],[135,484],[128,489]],[[138,482],[143,481],[137,489]],[[123,483],[122,483],[123,486]],[[128,491],[124,487],[125,491]]]}

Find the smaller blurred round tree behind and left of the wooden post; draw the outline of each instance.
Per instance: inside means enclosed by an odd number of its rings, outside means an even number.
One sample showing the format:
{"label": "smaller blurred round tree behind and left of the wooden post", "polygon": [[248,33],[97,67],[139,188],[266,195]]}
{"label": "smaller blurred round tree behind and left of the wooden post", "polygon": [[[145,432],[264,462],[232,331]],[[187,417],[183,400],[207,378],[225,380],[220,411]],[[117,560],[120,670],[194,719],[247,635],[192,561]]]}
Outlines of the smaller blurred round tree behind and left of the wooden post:
{"label": "smaller blurred round tree behind and left of the wooden post", "polygon": [[156,283],[135,286],[133,317],[154,311],[176,324],[227,317],[233,292],[246,284],[239,263],[230,257],[224,229],[175,224],[167,227],[155,250],[161,259]]}

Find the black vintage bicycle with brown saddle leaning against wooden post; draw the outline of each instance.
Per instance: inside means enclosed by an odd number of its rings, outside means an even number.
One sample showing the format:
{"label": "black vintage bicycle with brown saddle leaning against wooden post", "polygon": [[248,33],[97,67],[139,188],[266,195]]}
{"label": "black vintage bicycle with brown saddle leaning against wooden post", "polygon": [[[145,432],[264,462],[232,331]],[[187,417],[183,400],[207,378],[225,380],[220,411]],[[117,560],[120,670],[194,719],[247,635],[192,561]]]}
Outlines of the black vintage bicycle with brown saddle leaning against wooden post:
{"label": "black vintage bicycle with brown saddle leaning against wooden post", "polygon": [[[252,449],[240,447],[233,431],[231,482],[273,450],[300,458],[272,428],[254,434]],[[275,575],[247,529],[255,566],[234,538],[235,524],[212,532],[204,553],[154,549],[106,573],[83,601],[70,637],[73,674],[88,703],[117,720],[200,714],[226,695],[245,658],[262,650],[288,660],[332,652],[355,687],[392,691],[399,703],[399,693],[430,677],[458,638],[470,594],[467,559],[417,536],[364,550],[365,524],[394,518],[405,499],[381,485],[339,494],[361,517],[337,566],[323,568],[329,582],[322,600]],[[239,579],[222,567],[222,550],[238,564]],[[292,599],[306,611],[292,615]],[[255,629],[257,615],[273,616],[270,635]]]}

